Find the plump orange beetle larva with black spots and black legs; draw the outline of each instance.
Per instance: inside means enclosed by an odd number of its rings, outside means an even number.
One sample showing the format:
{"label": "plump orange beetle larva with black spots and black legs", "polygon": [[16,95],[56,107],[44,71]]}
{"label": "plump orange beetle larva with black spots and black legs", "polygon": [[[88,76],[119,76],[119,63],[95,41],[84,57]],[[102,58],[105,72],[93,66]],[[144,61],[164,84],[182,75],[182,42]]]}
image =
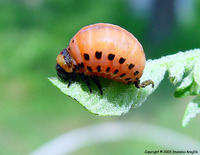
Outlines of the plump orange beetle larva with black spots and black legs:
{"label": "plump orange beetle larva with black spots and black legs", "polygon": [[98,77],[143,88],[152,84],[147,80],[140,84],[146,59],[139,41],[125,29],[106,23],[83,27],[57,56],[56,70],[60,79],[69,80],[68,87],[79,75],[90,92],[89,78],[102,87]]}

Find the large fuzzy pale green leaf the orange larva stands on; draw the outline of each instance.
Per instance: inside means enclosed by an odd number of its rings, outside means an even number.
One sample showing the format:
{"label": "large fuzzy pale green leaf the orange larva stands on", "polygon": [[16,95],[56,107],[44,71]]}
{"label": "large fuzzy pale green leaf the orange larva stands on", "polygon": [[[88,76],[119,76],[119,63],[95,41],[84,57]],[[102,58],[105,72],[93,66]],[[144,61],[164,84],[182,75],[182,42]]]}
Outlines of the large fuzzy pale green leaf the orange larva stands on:
{"label": "large fuzzy pale green leaf the orange larva stands on", "polygon": [[194,49],[157,60],[148,60],[140,80],[141,82],[153,80],[154,88],[147,86],[137,89],[134,85],[128,86],[100,78],[103,87],[103,95],[100,95],[99,90],[93,84],[93,93],[91,94],[86,84],[81,81],[74,82],[68,88],[67,82],[63,83],[56,77],[51,77],[49,80],[63,93],[76,99],[91,113],[101,116],[120,116],[127,113],[131,107],[139,107],[159,86],[166,71],[169,72],[169,79],[173,84],[181,82],[184,74],[189,73],[177,88],[176,97],[199,94],[199,59],[200,50]]}

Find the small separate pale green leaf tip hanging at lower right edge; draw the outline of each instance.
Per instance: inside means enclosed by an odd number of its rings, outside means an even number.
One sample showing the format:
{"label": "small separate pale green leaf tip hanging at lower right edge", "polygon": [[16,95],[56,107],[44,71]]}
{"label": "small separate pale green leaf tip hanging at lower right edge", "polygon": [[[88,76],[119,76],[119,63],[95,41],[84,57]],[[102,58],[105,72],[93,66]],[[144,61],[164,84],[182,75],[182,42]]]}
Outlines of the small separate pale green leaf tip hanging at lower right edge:
{"label": "small separate pale green leaf tip hanging at lower right edge", "polygon": [[194,118],[198,113],[200,113],[200,95],[188,104],[183,116],[182,126],[185,127],[188,125],[190,119]]}

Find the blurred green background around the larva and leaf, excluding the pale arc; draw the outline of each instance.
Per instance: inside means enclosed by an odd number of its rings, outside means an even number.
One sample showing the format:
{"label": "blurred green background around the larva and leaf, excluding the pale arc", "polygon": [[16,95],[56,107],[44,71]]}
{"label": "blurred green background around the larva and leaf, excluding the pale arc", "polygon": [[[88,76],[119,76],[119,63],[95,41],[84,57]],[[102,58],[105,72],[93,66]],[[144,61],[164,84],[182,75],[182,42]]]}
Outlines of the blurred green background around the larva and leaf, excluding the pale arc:
{"label": "blurred green background around the larva and leaf, excluding the pale arc", "polygon": [[[198,0],[1,0],[0,154],[27,154],[65,132],[109,121],[156,124],[200,140],[199,116],[188,127],[181,127],[192,97],[174,98],[175,87],[167,75],[140,108],[121,117],[90,114],[47,80],[56,76],[56,56],[83,26],[119,25],[138,38],[147,59],[155,59],[199,48],[199,17]],[[86,147],[81,152],[140,154],[158,148],[125,141]]]}

